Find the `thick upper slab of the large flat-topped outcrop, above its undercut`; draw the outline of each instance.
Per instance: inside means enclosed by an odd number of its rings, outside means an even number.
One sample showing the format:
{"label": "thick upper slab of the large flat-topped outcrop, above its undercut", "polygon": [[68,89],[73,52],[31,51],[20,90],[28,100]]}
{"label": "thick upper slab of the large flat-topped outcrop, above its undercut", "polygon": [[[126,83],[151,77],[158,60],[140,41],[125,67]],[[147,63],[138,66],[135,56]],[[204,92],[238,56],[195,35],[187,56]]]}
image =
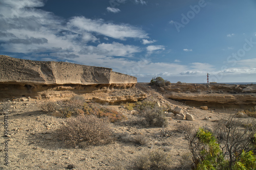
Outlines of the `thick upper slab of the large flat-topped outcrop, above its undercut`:
{"label": "thick upper slab of the large flat-topped outcrop, above its undercut", "polygon": [[32,61],[0,55],[0,83],[110,84],[137,83],[137,78],[111,68],[67,62]]}

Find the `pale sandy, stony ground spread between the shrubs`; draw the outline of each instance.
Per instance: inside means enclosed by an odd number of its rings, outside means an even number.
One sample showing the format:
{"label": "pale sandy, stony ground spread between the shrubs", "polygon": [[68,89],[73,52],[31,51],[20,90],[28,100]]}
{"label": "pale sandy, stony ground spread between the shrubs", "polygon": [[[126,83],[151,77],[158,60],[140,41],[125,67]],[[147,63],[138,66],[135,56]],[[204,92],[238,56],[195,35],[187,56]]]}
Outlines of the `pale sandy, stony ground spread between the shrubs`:
{"label": "pale sandy, stony ground spread between the shrubs", "polygon": [[[115,140],[114,142],[100,146],[89,146],[85,148],[69,147],[59,140],[56,131],[65,118],[49,116],[37,107],[42,100],[30,99],[20,101],[10,99],[3,101],[10,103],[8,114],[8,137],[4,136],[4,119],[0,115],[1,145],[0,145],[0,169],[67,169],[73,164],[73,169],[133,169],[134,157],[144,150],[163,149],[169,156],[170,169],[176,169],[180,165],[181,156],[189,152],[184,135],[176,129],[181,124],[190,124],[195,128],[214,125],[214,120],[227,118],[230,113],[236,113],[236,109],[201,110],[191,108],[177,101],[164,99],[162,94],[148,86],[139,87],[152,100],[161,104],[168,104],[174,108],[180,106],[185,112],[194,115],[195,121],[177,120],[168,118],[168,126],[165,131],[168,136],[162,136],[162,128],[146,128],[134,124],[137,117],[131,111],[122,106],[108,106],[123,113],[127,119],[122,122],[111,124],[114,133],[118,136],[126,135],[133,137],[143,134],[147,140],[146,144],[139,145],[129,141]],[[203,120],[211,117],[210,120]],[[4,142],[8,142],[8,152],[5,151]],[[4,165],[4,155],[8,153],[8,166]]]}

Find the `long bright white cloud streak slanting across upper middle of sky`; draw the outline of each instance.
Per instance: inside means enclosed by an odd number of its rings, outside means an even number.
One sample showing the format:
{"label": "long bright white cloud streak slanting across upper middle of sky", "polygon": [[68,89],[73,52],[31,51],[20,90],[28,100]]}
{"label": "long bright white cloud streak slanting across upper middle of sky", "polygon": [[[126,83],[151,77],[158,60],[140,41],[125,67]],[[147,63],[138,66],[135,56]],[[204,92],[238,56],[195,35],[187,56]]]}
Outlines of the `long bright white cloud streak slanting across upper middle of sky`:
{"label": "long bright white cloud streak slanting across upper middle of sky", "polygon": [[83,16],[74,17],[69,22],[70,28],[79,31],[95,32],[115,39],[125,38],[148,38],[146,33],[139,28],[127,24],[114,24],[105,22],[103,19],[89,19]]}

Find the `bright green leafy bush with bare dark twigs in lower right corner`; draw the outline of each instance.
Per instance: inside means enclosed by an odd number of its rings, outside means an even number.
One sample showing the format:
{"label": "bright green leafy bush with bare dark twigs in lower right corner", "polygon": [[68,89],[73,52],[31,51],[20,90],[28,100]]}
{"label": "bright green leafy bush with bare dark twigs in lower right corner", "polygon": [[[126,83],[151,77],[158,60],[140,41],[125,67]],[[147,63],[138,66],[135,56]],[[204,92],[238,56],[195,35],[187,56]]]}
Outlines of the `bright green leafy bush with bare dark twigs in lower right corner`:
{"label": "bright green leafy bush with bare dark twigs in lower right corner", "polygon": [[242,128],[240,119],[230,116],[218,121],[213,133],[203,128],[197,132],[184,128],[184,134],[196,169],[256,168],[252,153],[255,151],[256,134]]}

